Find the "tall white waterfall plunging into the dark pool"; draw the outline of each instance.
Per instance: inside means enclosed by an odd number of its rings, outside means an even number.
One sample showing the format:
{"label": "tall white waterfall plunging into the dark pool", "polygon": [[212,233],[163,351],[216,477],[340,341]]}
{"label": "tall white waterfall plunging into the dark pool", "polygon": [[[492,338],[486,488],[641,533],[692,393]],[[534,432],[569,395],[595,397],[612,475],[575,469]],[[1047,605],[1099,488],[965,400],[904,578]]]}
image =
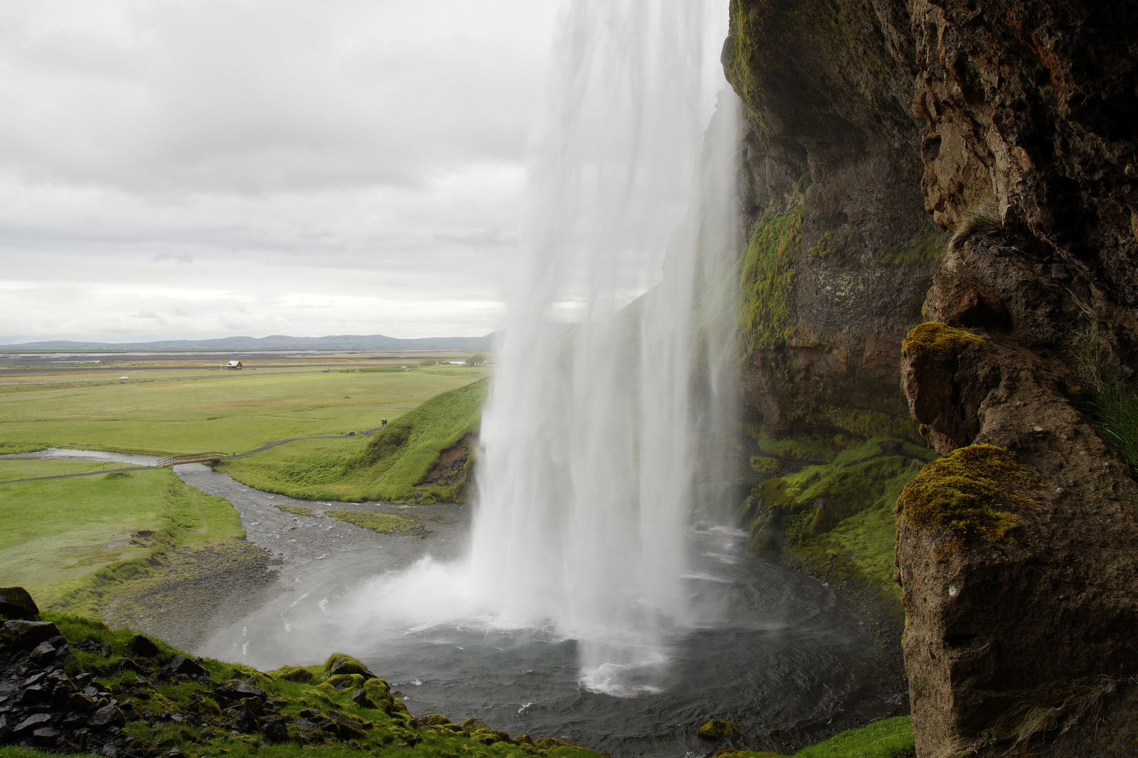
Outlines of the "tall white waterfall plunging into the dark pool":
{"label": "tall white waterfall plunging into the dark pool", "polygon": [[616,694],[651,689],[693,621],[685,534],[734,396],[726,10],[564,9],[484,412],[471,586],[500,625],[575,637]]}

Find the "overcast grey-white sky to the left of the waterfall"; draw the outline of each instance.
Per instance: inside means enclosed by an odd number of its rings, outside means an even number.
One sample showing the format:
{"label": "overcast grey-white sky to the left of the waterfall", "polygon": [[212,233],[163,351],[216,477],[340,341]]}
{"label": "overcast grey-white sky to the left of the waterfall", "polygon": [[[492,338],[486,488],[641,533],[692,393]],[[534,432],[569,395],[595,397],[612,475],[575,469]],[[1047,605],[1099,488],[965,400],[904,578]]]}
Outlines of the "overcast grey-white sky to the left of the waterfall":
{"label": "overcast grey-white sky to the left of the waterfall", "polygon": [[0,344],[490,331],[559,5],[0,3]]}

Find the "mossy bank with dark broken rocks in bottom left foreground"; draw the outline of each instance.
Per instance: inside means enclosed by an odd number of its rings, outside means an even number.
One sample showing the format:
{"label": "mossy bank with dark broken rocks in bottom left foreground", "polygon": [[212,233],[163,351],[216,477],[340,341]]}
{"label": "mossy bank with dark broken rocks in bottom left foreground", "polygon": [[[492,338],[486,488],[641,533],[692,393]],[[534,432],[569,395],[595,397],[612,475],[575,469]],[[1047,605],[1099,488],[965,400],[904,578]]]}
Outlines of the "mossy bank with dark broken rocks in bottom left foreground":
{"label": "mossy bank with dark broken rocks in bottom left foreground", "polygon": [[265,674],[76,616],[40,620],[26,593],[0,593],[6,616],[25,617],[0,628],[0,744],[109,758],[322,748],[419,748],[442,758],[597,755],[561,740],[511,738],[475,718],[415,718],[349,656]]}

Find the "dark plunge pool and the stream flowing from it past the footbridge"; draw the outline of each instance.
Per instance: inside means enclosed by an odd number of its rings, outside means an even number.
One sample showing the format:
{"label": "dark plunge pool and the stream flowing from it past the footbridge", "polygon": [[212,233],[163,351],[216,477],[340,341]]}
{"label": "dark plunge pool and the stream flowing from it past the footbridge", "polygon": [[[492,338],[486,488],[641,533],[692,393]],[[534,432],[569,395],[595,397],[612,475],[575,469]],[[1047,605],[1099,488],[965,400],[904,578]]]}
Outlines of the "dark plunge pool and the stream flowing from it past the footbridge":
{"label": "dark plunge pool and the stream flowing from it past the footbridge", "polygon": [[[93,451],[38,456],[152,463]],[[249,542],[278,571],[259,608],[217,629],[199,654],[267,670],[346,652],[386,678],[417,716],[473,716],[510,734],[556,736],[618,758],[744,745],[791,752],[902,712],[904,683],[882,665],[857,603],[750,553],[740,530],[690,534],[685,579],[699,621],[665,632],[668,652],[652,686],[599,692],[578,681],[574,640],[494,628],[477,615],[455,618],[448,583],[465,551],[469,506],[297,501],[197,463],[174,471],[233,503]],[[333,509],[407,516],[420,527],[377,534],[323,516]],[[739,723],[744,739],[700,740],[696,727],[712,717]]]}

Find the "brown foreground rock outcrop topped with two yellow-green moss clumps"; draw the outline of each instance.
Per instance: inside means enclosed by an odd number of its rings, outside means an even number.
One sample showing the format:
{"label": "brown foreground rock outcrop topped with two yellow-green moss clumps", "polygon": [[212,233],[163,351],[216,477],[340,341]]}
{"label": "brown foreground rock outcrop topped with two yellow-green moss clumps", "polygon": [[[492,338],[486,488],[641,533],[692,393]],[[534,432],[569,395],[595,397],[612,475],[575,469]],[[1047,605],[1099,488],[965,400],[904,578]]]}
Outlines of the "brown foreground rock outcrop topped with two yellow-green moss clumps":
{"label": "brown foreground rock outcrop topped with two yellow-green moss clumps", "polygon": [[[943,324],[914,332],[914,418],[938,452],[956,451],[898,503],[917,755],[1016,740],[1132,755],[1133,711],[1119,703],[1138,673],[1138,485],[1041,359]],[[1095,750],[1055,752],[1042,738],[1057,734]]]}

